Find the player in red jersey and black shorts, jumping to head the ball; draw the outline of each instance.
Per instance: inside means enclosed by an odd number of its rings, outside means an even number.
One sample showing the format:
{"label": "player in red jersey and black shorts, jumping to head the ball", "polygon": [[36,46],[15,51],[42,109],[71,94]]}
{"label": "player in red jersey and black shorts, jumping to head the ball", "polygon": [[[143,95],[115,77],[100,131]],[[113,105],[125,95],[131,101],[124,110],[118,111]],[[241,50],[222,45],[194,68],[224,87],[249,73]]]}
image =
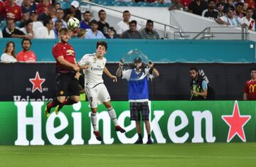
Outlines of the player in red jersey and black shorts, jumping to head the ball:
{"label": "player in red jersey and black shorts, jumping to head the ball", "polygon": [[[60,28],[58,31],[59,43],[53,46],[53,57],[56,60],[56,96],[53,102],[46,105],[46,117],[50,116],[50,109],[55,108],[58,114],[64,105],[71,105],[80,101],[80,88],[78,77],[80,68],[75,60],[75,50],[68,44],[70,38],[68,28]],[[68,98],[67,98],[68,97]]]}

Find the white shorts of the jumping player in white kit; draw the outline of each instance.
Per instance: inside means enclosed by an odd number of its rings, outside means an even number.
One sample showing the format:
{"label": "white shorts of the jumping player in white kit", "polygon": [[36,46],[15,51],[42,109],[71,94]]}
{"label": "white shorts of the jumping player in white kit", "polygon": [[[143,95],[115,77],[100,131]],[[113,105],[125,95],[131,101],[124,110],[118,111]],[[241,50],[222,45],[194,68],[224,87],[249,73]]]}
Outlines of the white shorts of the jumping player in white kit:
{"label": "white shorts of the jumping player in white kit", "polygon": [[92,88],[85,87],[85,93],[87,95],[90,108],[96,108],[98,104],[110,101],[110,94],[103,83]]}

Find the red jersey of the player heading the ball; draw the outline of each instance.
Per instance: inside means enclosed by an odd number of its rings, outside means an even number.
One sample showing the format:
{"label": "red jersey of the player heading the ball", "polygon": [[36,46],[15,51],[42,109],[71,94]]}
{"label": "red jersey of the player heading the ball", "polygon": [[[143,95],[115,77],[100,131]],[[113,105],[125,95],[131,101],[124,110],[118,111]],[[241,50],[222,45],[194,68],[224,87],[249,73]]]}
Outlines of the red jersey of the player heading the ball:
{"label": "red jersey of the player heading the ball", "polygon": [[68,43],[58,43],[53,46],[53,57],[56,60],[56,68],[58,72],[70,72],[69,68],[60,65],[57,58],[60,56],[63,56],[65,60],[67,60],[69,63],[75,64],[75,50],[74,48],[69,45]]}

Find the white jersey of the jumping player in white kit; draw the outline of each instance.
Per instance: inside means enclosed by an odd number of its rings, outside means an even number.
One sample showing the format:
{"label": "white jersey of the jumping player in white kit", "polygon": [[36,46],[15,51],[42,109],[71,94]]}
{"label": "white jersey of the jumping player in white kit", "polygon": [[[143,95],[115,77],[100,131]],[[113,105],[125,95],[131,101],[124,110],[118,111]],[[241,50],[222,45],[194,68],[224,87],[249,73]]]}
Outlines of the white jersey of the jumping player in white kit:
{"label": "white jersey of the jumping player in white kit", "polygon": [[85,74],[85,87],[95,87],[99,83],[103,83],[102,74],[107,63],[106,58],[99,59],[96,54],[86,54],[82,57],[79,65],[89,65],[89,68],[83,70]]}

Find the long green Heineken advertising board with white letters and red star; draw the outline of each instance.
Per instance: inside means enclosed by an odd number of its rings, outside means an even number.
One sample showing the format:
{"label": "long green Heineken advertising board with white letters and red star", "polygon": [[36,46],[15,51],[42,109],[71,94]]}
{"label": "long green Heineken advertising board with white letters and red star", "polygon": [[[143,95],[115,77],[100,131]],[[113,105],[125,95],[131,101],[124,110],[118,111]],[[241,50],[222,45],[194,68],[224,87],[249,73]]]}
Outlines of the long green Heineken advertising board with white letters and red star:
{"label": "long green Heineken advertising board with white letters and red star", "polygon": [[[46,102],[0,102],[0,144],[63,145],[100,144],[92,133],[87,102],[63,107],[56,115],[43,114]],[[101,105],[98,108],[102,144],[133,144],[135,122],[129,117],[129,102],[112,102],[120,126],[114,125]],[[150,102],[151,134],[154,143],[213,143],[255,141],[256,102],[155,101]],[[144,130],[144,142],[146,131]]]}

